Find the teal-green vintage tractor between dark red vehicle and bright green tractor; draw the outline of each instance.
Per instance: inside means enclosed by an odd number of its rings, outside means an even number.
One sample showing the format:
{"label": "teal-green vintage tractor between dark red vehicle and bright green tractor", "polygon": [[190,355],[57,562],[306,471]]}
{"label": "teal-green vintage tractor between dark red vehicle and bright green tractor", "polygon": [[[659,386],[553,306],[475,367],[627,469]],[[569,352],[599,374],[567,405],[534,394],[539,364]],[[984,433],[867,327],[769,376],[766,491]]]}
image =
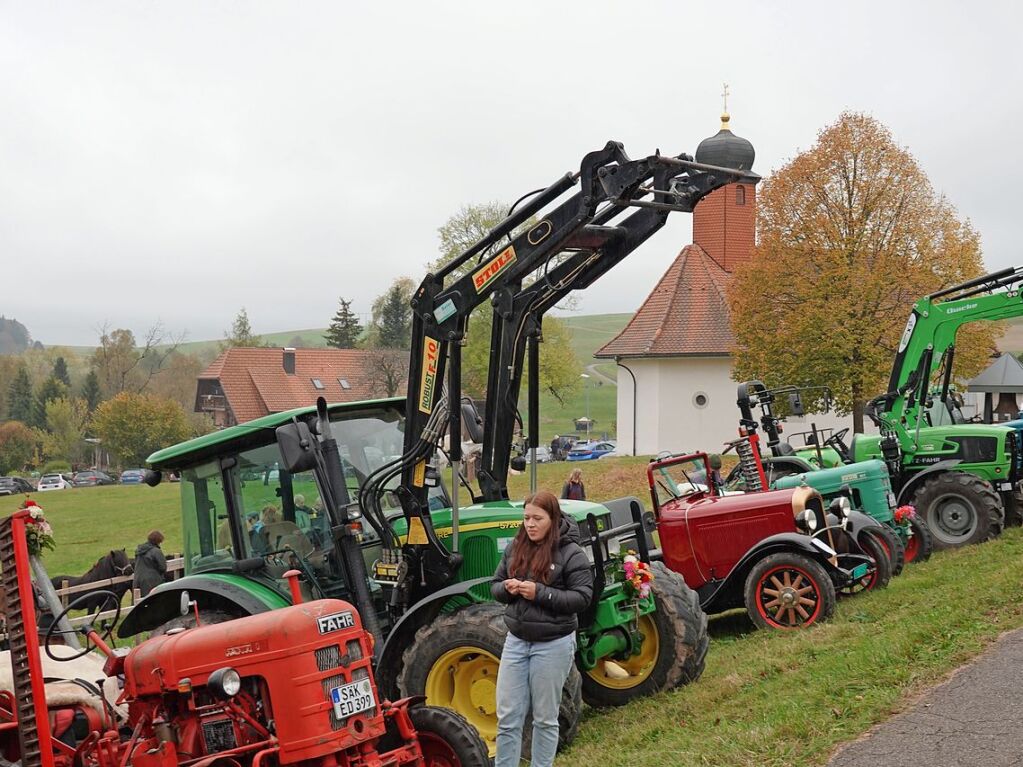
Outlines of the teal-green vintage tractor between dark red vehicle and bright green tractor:
{"label": "teal-green vintage tractor between dark red vehicle and bright green tractor", "polygon": [[[769,454],[761,456],[761,461],[768,487],[786,489],[806,485],[820,493],[826,500],[847,496],[853,508],[863,511],[884,526],[888,533],[885,545],[892,560],[893,575],[901,573],[902,566],[906,562],[927,559],[933,545],[930,532],[915,514],[899,513],[899,518],[896,520],[898,509],[895,493],[892,491],[888,467],[883,461],[856,461],[822,468],[824,450],[830,448],[817,445],[817,452],[808,458],[797,455],[789,443],[782,441],[782,419],[773,411],[775,399],[788,395],[792,413],[802,415],[801,395],[807,391],[798,387],[767,389],[759,380],[739,385],[740,435],[755,436],[758,426],[763,428]],[[828,392],[825,393],[825,400],[830,400]],[[754,413],[756,407],[760,408],[759,422]],[[816,445],[815,428],[811,435],[809,442]],[[739,445],[741,443],[737,443]],[[759,452],[759,440],[753,441],[752,449]],[[744,460],[750,458],[740,456],[740,464],[725,480],[726,489],[741,489],[745,484],[745,477],[755,476],[745,470]]]}

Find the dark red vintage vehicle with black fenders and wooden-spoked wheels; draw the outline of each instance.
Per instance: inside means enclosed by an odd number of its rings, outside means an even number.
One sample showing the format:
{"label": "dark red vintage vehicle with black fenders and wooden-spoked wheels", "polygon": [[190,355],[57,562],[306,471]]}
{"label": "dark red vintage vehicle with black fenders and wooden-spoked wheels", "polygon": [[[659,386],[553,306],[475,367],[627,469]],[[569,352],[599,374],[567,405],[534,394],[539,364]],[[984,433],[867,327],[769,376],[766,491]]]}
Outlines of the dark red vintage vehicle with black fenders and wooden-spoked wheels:
{"label": "dark red vintage vehicle with black fenders and wooden-spoked wheels", "polygon": [[[737,447],[750,449],[750,439]],[[748,465],[760,472],[749,486],[766,487],[763,468]],[[706,453],[654,460],[647,477],[659,554],[708,614],[745,606],[760,628],[803,628],[831,617],[837,593],[891,577],[884,549],[857,543],[877,540],[862,534],[882,534],[880,525],[844,497],[826,507],[808,487],[724,494]]]}

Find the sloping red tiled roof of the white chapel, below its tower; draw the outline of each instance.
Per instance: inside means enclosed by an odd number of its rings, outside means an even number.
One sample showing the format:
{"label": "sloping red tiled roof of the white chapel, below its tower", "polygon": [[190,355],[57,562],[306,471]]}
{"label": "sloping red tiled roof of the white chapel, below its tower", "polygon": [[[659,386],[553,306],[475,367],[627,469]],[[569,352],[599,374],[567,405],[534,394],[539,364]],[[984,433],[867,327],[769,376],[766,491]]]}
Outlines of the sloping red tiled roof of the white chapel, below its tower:
{"label": "sloping red tiled roof of the white chapel, below its tower", "polygon": [[723,356],[735,337],[725,289],[731,275],[698,244],[682,249],[639,311],[594,357]]}

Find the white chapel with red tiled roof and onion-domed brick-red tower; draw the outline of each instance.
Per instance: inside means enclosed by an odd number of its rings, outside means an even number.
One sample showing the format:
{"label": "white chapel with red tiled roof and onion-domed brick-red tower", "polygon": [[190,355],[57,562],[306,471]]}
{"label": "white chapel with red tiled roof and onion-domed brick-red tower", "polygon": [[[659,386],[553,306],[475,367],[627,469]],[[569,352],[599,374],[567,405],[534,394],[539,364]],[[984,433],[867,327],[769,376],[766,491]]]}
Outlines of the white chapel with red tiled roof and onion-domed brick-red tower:
{"label": "white chapel with red tiled roof and onion-domed brick-red tower", "polygon": [[[753,167],[755,151],[728,127],[700,142],[696,160]],[[718,451],[737,437],[739,410],[731,378],[731,334],[725,290],[748,261],[756,236],[756,187],[729,184],[693,214],[685,245],[622,331],[594,354],[618,365],[618,451]],[[851,418],[807,414],[789,431],[843,427]]]}

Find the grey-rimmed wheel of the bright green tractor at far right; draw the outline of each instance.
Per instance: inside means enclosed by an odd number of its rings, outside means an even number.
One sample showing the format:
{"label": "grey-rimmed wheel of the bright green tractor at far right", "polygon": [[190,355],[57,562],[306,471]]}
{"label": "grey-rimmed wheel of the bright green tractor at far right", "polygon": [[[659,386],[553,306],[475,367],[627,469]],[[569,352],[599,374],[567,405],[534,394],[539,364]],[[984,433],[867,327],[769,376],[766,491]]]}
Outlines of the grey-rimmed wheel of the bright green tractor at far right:
{"label": "grey-rimmed wheel of the bright green tractor at far right", "polygon": [[945,471],[924,480],[913,505],[931,531],[934,548],[983,543],[1002,535],[1002,499],[984,480],[965,471]]}

